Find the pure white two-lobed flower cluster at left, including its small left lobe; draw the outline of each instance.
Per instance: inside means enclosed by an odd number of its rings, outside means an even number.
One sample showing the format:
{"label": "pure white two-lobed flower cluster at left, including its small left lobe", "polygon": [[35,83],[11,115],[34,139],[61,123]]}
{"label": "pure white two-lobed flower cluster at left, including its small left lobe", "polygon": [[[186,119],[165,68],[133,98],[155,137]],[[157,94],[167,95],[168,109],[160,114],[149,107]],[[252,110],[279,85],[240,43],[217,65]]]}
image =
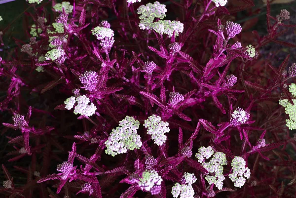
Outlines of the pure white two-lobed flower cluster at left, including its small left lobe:
{"label": "pure white two-lobed flower cluster at left, including its small left lobe", "polygon": [[90,100],[85,95],[78,96],[77,98],[74,96],[67,98],[64,102],[64,104],[66,104],[65,108],[71,110],[74,107],[75,102],[77,102],[77,105],[74,108],[74,114],[81,114],[90,117],[94,115],[97,110],[97,107],[93,103],[88,105]]}

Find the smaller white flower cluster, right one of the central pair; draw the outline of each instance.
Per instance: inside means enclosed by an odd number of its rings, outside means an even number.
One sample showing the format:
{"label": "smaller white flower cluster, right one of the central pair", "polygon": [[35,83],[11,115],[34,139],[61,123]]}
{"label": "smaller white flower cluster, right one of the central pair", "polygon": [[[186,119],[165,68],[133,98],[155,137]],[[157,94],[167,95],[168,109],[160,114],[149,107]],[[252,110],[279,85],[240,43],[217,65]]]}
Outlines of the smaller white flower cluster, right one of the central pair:
{"label": "smaller white flower cluster, right one of the central pair", "polygon": [[147,134],[151,135],[155,144],[161,146],[165,143],[167,139],[165,133],[170,131],[168,122],[161,121],[159,116],[152,115],[145,120],[144,126],[148,128]]}

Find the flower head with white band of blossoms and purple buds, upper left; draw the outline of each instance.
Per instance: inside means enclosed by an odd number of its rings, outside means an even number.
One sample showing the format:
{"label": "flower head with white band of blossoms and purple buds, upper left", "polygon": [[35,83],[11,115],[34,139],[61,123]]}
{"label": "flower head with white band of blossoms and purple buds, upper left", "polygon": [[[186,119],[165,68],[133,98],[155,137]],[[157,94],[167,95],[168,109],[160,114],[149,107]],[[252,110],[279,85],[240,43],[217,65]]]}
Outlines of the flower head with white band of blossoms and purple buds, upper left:
{"label": "flower head with white band of blossoms and purple buds, upper left", "polygon": [[105,49],[111,48],[114,43],[114,31],[110,29],[107,21],[102,21],[100,25],[91,30],[92,35],[101,41],[101,46]]}

